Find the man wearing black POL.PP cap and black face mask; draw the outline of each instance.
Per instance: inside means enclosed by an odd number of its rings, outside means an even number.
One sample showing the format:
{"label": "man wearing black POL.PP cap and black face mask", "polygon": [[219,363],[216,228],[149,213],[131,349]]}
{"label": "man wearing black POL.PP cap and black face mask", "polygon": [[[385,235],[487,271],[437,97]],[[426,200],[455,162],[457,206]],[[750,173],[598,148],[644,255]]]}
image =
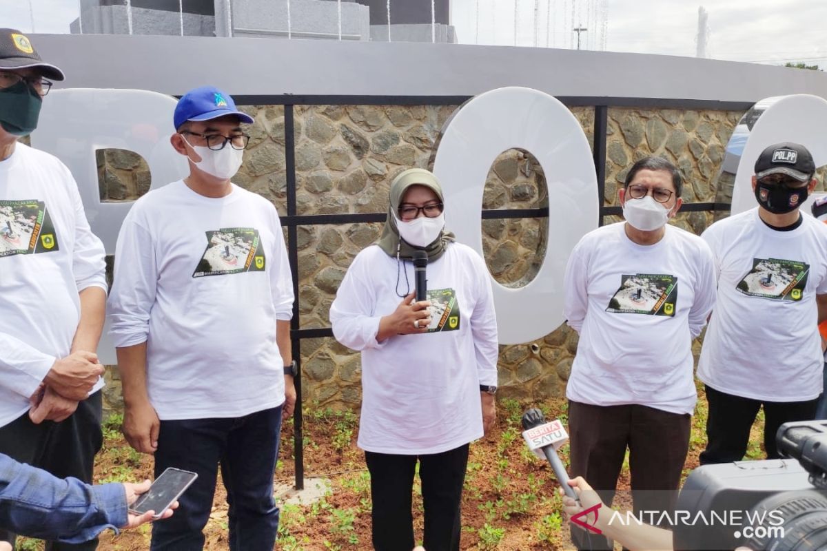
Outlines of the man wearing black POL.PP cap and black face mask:
{"label": "man wearing black POL.PP cap and black face mask", "polygon": [[718,271],[718,302],[698,363],[706,385],[708,442],[700,463],[739,461],[764,408],[764,449],[786,421],[815,415],[822,385],[816,321],[827,312],[827,226],[799,207],[815,188],[803,145],[770,145],[758,156],[758,207],[701,235]]}

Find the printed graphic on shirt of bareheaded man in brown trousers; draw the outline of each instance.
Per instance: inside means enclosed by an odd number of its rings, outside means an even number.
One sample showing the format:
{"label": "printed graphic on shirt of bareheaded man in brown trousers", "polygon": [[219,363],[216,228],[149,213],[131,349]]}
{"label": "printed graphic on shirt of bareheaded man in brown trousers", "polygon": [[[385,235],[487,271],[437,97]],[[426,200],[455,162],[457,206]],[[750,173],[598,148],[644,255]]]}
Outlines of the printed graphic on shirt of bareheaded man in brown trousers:
{"label": "printed graphic on shirt of bareheaded man in brown trousers", "polygon": [[675,316],[677,278],[665,273],[620,276],[620,288],[606,311],[615,314]]}

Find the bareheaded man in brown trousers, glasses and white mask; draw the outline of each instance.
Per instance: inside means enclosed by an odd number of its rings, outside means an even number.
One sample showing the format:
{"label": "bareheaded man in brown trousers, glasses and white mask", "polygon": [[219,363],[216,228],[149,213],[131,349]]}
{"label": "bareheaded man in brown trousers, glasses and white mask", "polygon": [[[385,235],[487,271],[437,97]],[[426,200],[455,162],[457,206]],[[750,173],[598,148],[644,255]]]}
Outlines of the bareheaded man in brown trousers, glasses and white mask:
{"label": "bareheaded man in brown trousers, glasses and white mask", "polygon": [[[715,301],[709,246],[667,224],[681,187],[666,159],[633,164],[619,190],[625,221],[586,234],[564,281],[566,321],[580,334],[566,387],[571,473],[610,506],[629,449],[635,513],[674,506],[697,401],[692,340]],[[578,549],[612,549],[581,528],[571,537]]]}

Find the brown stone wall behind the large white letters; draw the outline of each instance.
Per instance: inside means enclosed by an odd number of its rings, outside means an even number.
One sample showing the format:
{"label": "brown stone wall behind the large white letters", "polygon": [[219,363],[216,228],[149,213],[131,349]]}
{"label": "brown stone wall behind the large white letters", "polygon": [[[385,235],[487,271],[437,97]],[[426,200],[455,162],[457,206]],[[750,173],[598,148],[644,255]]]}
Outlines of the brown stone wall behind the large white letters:
{"label": "brown stone wall behind the large white letters", "polygon": [[[299,215],[385,212],[390,181],[411,166],[429,168],[433,144],[457,106],[301,106],[294,110],[297,209]],[[286,214],[284,109],[245,107],[256,118],[250,145],[234,181],[274,202]],[[587,139],[594,133],[591,107],[571,109]],[[715,182],[741,112],[610,108],[607,131],[605,205],[634,161],[648,154],[672,160],[685,178],[686,202],[716,200]],[[107,150],[98,155],[101,197],[131,200],[149,187],[146,165],[135,154]],[[494,159],[485,182],[485,209],[547,206],[543,169],[530,152],[509,150]],[[619,220],[609,217],[607,222]],[[681,213],[674,223],[696,233],[710,212]],[[450,212],[447,212],[450,226]],[[299,312],[302,328],[329,326],[328,311],[353,257],[373,243],[381,223],[299,226]],[[504,285],[521,286],[537,273],[548,236],[543,219],[482,222],[485,261]],[[577,335],[562,325],[532,343],[500,347],[503,397],[541,401],[562,397],[576,352]],[[697,343],[696,343],[697,349]],[[359,355],[332,338],[301,342],[306,404],[357,407]],[[111,376],[110,376],[111,378]],[[117,407],[117,378],[108,401]]]}

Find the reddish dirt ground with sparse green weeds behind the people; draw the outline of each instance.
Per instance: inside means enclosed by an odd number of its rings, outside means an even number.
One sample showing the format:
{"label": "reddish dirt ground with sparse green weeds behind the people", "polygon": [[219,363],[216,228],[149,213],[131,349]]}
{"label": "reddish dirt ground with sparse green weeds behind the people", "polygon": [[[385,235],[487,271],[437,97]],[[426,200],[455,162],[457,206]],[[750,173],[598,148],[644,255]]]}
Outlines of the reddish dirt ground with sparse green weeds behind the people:
{"label": "reddish dirt ground with sparse green weeds behind the people", "polygon": [[[690,452],[685,473],[697,466],[705,442],[705,401],[701,396],[693,418]],[[571,549],[568,530],[560,514],[558,484],[545,461],[528,452],[519,427],[526,405],[514,401],[498,402],[498,425],[485,439],[471,444],[462,501],[461,549],[501,549],[535,551]],[[547,419],[559,418],[566,424],[562,400],[542,406]],[[112,416],[104,426],[104,449],[98,455],[98,482],[135,481],[151,477],[152,460],[136,454],[120,434],[120,416]],[[758,442],[757,424],[753,442]],[[305,476],[330,481],[321,501],[308,505],[283,505],[280,535],[276,549],[361,550],[370,547],[370,477],[364,455],[356,448],[357,416],[351,411],[332,411],[306,406],[304,411]],[[566,462],[567,451],[562,449]],[[761,450],[753,444],[748,456]],[[276,482],[294,480],[293,423],[284,426]],[[418,480],[418,479],[417,479]],[[628,489],[629,470],[624,466],[619,488]],[[615,506],[629,506],[627,503]],[[414,523],[422,537],[422,500],[414,487]],[[209,551],[227,549],[226,492],[219,483],[205,530]],[[103,534],[99,549],[137,551],[148,549],[150,530]],[[39,549],[39,542],[27,540],[22,549]]]}

